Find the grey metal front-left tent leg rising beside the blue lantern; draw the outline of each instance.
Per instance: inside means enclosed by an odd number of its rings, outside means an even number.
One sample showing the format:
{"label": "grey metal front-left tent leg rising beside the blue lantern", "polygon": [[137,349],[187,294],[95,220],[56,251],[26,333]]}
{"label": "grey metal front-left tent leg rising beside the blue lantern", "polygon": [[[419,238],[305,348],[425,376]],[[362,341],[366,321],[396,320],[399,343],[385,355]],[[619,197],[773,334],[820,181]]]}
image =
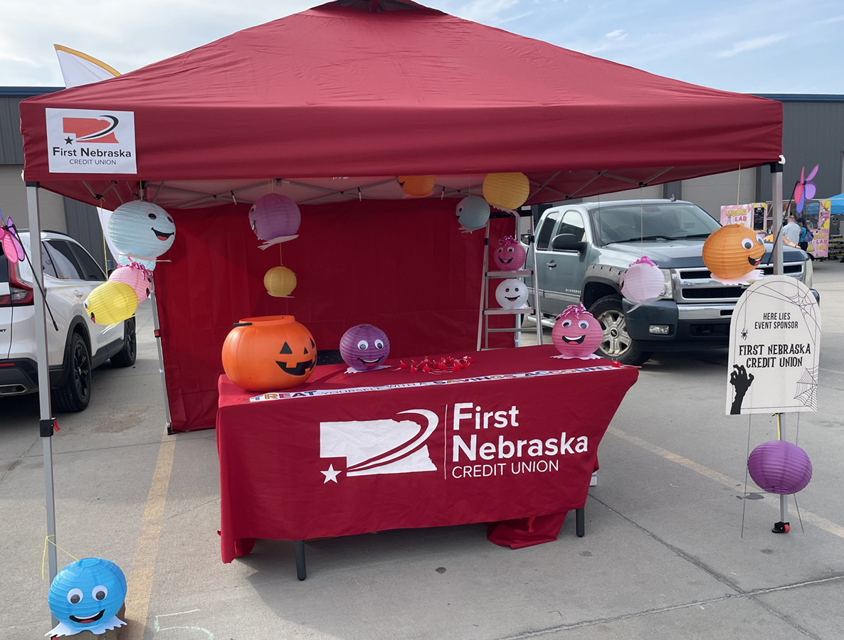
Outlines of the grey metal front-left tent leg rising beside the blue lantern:
{"label": "grey metal front-left tent leg rising beside the blue lantern", "polygon": [[[46,496],[47,516],[47,563],[50,567],[50,582],[58,573],[58,562],[56,558],[56,495],[53,482],[52,464],[52,434],[53,418],[52,407],[50,406],[50,363],[47,359],[47,323],[44,296],[41,294],[44,288],[44,270],[41,260],[41,216],[38,210],[38,183],[26,183],[26,208],[30,222],[30,252],[29,258],[32,266],[32,277],[37,281],[33,288],[35,297],[35,350],[38,357],[38,406],[39,406],[39,432],[41,433],[41,444],[44,450],[44,489]],[[38,286],[41,285],[41,287]],[[48,543],[51,542],[52,544]],[[58,624],[53,618],[53,627]]]}

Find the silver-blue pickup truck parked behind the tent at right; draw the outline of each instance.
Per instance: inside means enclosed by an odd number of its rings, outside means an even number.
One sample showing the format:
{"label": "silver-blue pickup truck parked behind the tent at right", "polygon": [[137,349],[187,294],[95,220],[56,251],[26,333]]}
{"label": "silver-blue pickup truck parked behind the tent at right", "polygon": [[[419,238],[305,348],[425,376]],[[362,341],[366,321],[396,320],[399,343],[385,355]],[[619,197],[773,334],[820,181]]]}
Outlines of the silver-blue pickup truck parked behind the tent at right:
{"label": "silver-blue pickup truck parked behind the tent at right", "polygon": [[[720,226],[701,207],[670,200],[580,202],[546,210],[534,245],[544,324],[553,325],[565,307],[582,302],[603,327],[598,355],[625,364],[644,363],[654,352],[726,347],[730,316],[746,287],[712,280],[703,263],[703,243]],[[772,250],[766,245],[760,266],[766,275],[773,272]],[[657,301],[631,310],[619,279],[641,255],[660,267],[665,287]],[[784,247],[783,265],[785,275],[812,287],[808,254]]]}

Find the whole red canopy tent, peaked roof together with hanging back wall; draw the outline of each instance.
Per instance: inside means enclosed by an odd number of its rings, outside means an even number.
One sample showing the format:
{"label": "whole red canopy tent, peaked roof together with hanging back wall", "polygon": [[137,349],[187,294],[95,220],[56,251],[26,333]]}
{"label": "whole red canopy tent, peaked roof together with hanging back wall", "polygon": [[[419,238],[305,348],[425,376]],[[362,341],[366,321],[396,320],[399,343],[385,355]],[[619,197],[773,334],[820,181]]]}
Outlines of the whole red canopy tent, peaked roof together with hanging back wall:
{"label": "whole red canopy tent, peaked roof together with hanging back wall", "polygon": [[[20,110],[25,180],[111,209],[145,187],[176,219],[155,271],[176,430],[213,426],[219,347],[249,315],[292,313],[321,348],[360,322],[399,357],[473,348],[483,239],[458,233],[454,207],[487,173],[525,173],[531,204],[782,153],[779,102],[396,0],[324,4]],[[64,110],[131,114],[135,172],[51,171],[65,143],[47,121]],[[436,190],[408,199],[397,175]],[[294,298],[262,287],[279,257],[246,213],[269,191],[302,207],[282,245]]]}

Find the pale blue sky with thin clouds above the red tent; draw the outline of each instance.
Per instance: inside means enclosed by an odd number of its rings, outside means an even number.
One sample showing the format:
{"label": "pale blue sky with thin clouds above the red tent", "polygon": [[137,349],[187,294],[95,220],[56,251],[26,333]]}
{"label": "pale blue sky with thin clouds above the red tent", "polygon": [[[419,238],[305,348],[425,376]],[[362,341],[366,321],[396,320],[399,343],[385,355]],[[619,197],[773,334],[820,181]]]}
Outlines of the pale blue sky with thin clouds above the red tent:
{"label": "pale blue sky with thin clouds above the red tent", "polygon": [[[841,0],[419,0],[650,73],[754,94],[844,94]],[[319,0],[3,0],[0,86],[64,86],[54,44],[121,73]]]}

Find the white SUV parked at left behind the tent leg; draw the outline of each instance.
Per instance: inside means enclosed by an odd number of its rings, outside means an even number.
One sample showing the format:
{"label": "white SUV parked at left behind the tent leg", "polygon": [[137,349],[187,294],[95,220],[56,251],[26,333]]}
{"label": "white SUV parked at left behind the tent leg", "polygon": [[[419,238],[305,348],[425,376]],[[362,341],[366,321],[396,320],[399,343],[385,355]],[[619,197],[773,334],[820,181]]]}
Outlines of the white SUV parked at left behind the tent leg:
{"label": "white SUV parked at left behind the tent leg", "polygon": [[[30,255],[30,234],[19,238]],[[95,325],[85,313],[88,294],[106,282],[106,274],[76,240],[65,234],[41,234],[47,312],[47,358],[53,406],[82,411],[91,399],[93,369],[111,358],[116,367],[135,363],[135,319]],[[35,307],[30,263],[11,264],[0,247],[0,395],[38,390]],[[53,320],[51,320],[50,312]]]}

